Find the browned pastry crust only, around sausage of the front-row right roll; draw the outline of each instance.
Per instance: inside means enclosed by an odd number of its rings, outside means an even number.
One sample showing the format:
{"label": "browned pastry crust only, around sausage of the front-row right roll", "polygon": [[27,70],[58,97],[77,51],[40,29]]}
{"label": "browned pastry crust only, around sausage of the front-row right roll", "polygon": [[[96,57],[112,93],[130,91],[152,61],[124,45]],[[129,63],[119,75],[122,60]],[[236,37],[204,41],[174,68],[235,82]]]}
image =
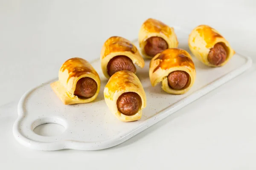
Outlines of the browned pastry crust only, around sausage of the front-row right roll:
{"label": "browned pastry crust only, around sausage of the front-row right roll", "polygon": [[[185,71],[189,74],[187,85],[175,90],[169,87],[167,76],[173,71]],[[170,94],[184,94],[195,82],[195,65],[189,53],[180,48],[169,48],[151,59],[149,65],[149,78],[152,86],[162,82],[164,91]]]}

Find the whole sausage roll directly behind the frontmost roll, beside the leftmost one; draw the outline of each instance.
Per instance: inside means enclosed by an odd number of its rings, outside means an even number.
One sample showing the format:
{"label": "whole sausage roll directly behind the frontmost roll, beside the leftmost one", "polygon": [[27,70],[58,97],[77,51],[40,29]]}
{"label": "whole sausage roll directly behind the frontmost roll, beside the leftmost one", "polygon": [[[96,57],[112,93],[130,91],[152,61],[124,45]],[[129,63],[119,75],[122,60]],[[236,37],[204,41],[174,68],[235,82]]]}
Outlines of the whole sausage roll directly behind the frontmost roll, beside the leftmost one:
{"label": "whole sausage roll directly behind the frontmost roll, beside the leftmost one", "polygon": [[136,46],[122,37],[110,37],[103,45],[101,51],[101,67],[106,78],[121,70],[136,73],[137,64],[140,68],[145,65],[144,59]]}

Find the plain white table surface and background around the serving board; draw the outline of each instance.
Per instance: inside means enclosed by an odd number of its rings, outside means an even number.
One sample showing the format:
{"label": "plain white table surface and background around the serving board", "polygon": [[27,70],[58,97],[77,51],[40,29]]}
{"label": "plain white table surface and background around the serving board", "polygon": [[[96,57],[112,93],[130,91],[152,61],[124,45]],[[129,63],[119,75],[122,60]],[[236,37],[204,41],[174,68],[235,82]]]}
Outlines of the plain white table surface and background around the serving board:
{"label": "plain white table surface and background around the serving board", "polygon": [[[70,57],[89,61],[108,37],[137,38],[144,20],[216,28],[253,65],[163,121],[106,150],[44,152],[12,135],[17,102],[58,76]],[[0,0],[0,169],[256,169],[255,0]]]}

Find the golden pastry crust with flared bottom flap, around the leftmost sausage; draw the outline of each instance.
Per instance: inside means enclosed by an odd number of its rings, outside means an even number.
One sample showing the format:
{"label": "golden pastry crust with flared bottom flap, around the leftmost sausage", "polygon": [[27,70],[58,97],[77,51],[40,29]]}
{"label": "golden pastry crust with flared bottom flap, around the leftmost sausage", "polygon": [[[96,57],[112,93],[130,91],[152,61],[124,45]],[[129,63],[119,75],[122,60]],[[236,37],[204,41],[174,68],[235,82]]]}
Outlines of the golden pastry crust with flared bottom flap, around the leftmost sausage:
{"label": "golden pastry crust with flared bottom flap, around the leftmost sausage", "polygon": [[[90,97],[78,97],[74,95],[76,83],[79,79],[90,77],[97,83],[96,93]],[[92,102],[99,94],[100,79],[98,73],[85,59],[71,58],[63,63],[59,70],[58,81],[51,84],[52,90],[65,105]]]}

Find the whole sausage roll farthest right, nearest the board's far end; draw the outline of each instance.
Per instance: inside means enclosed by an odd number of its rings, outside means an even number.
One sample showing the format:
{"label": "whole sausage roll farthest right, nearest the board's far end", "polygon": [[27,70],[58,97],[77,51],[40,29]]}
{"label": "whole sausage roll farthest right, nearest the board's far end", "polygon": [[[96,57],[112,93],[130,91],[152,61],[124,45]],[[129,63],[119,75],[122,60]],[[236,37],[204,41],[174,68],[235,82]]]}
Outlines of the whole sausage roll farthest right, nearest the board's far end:
{"label": "whole sausage roll farthest right, nearest the board's far end", "polygon": [[189,49],[201,62],[211,67],[225,65],[236,53],[215,29],[201,25],[189,35]]}

